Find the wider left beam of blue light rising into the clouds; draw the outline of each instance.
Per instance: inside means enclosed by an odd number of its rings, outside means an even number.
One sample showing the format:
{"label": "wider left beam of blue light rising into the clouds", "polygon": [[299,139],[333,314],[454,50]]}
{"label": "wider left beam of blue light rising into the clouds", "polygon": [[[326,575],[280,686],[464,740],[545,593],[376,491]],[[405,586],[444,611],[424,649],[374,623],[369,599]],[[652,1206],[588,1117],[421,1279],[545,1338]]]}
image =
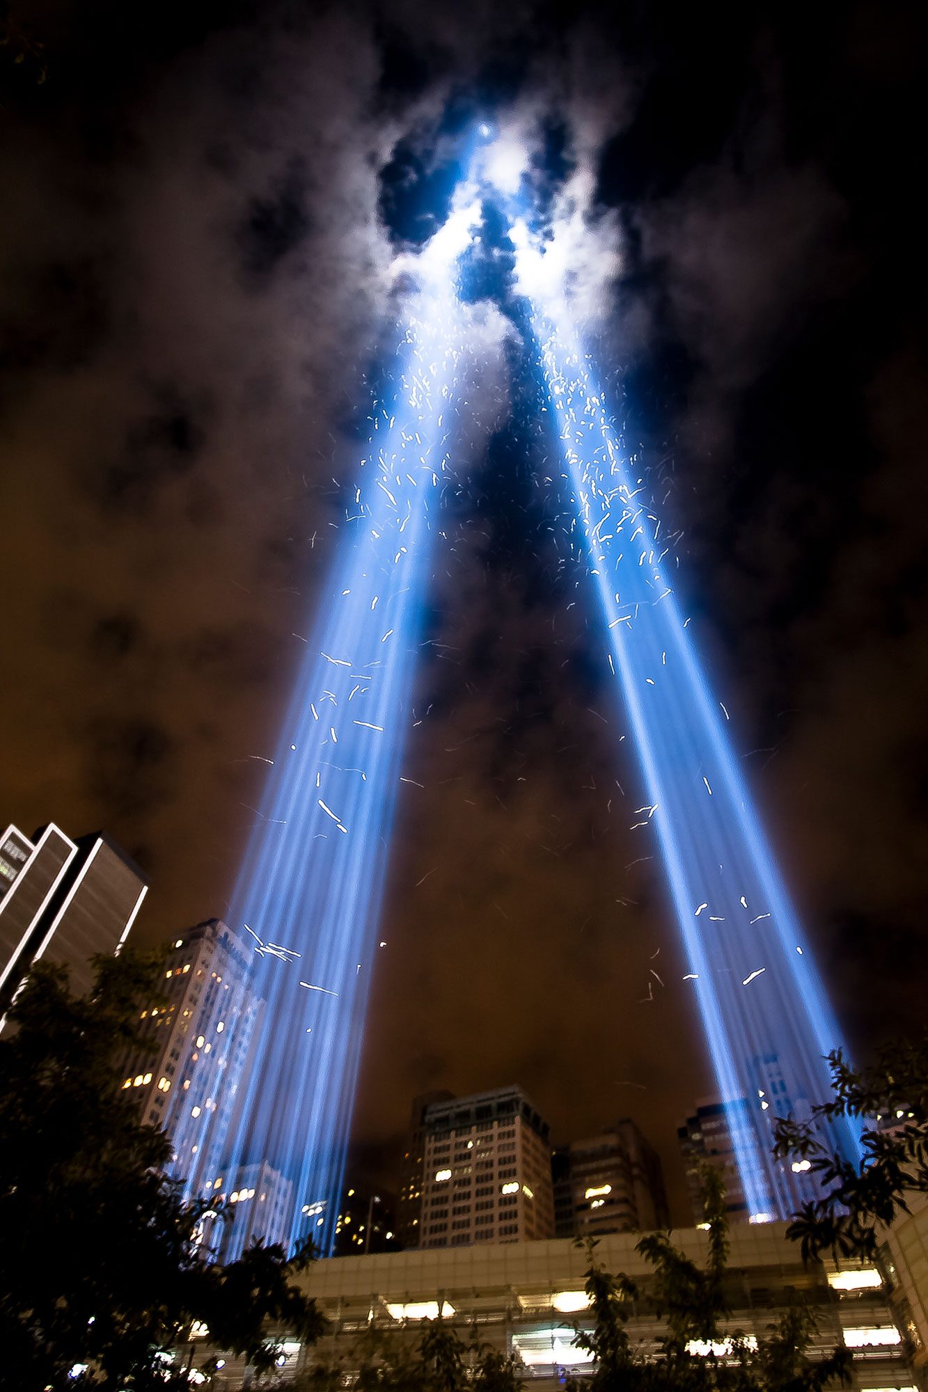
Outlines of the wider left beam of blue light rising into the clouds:
{"label": "wider left beam of blue light rising into the clouds", "polygon": [[[431,535],[457,420],[464,331],[453,267],[477,216],[457,206],[415,258],[399,386],[372,416],[315,628],[297,638],[305,660],[230,910],[254,949],[263,1019],[247,1068],[234,1030],[209,1041],[217,1090],[238,1093],[227,1130],[215,1097],[184,1107],[185,1061],[177,1073],[176,1171],[192,1197],[235,1193],[224,1257],[252,1232],[287,1246],[311,1236],[323,1253],[334,1237]],[[242,1212],[262,1196],[235,1176],[262,1162],[280,1176],[277,1197],[287,1194],[283,1224]],[[215,1244],[216,1232],[205,1240]]]}

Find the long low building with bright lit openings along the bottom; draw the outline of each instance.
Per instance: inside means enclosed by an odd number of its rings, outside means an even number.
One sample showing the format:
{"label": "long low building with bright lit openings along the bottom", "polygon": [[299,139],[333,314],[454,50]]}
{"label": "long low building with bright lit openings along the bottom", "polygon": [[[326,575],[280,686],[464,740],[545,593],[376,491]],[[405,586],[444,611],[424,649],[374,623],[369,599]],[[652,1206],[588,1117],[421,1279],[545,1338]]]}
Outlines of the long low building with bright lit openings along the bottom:
{"label": "long low building with bright lit openings along the bottom", "polygon": [[[896,1283],[902,1289],[910,1281],[906,1253],[913,1251],[917,1261],[913,1270],[921,1272],[922,1290],[917,1320],[928,1308],[925,1236],[913,1235],[904,1251],[900,1244],[900,1265],[890,1276],[851,1261],[804,1267],[798,1246],[786,1239],[786,1224],[738,1225],[732,1229],[725,1289],[732,1314],[725,1331],[764,1338],[768,1325],[800,1295],[818,1321],[812,1360],[828,1356],[843,1339],[854,1353],[854,1386],[861,1392],[889,1388],[915,1392],[920,1374],[913,1371],[913,1347],[893,1317],[892,1300]],[[610,1235],[601,1239],[596,1253],[608,1271],[627,1272],[638,1282],[641,1297],[631,1308],[627,1329],[633,1347],[654,1359],[666,1325],[649,1297],[651,1268],[635,1251],[637,1240],[634,1233]],[[705,1233],[681,1229],[673,1240],[687,1257],[699,1265],[705,1263]],[[564,1374],[582,1378],[588,1370],[588,1354],[573,1345],[574,1327],[589,1327],[585,1265],[585,1253],[570,1240],[479,1243],[314,1263],[298,1279],[332,1324],[309,1349],[297,1342],[284,1345],[284,1373],[334,1364],[344,1385],[351,1385],[359,1335],[372,1329],[393,1332],[400,1343],[412,1346],[422,1321],[435,1318],[440,1310],[464,1342],[479,1325],[482,1343],[521,1356],[527,1386],[555,1392]],[[920,1297],[908,1299],[917,1303]],[[725,1359],[725,1342],[712,1352]],[[241,1363],[227,1352],[217,1353],[223,1367],[216,1384],[241,1386]]]}

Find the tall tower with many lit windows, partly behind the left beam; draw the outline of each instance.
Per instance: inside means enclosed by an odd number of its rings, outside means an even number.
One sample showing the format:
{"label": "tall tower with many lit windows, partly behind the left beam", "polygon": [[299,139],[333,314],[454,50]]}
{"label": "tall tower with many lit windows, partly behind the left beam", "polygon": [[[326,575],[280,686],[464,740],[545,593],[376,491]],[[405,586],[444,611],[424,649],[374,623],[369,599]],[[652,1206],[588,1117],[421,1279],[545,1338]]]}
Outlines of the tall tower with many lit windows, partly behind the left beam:
{"label": "tall tower with many lit windows, partly behind the left beam", "polygon": [[251,987],[248,945],[222,919],[198,923],[174,941],[162,995],[141,1012],[150,1051],[127,1057],[123,1087],[138,1090],[146,1122],[176,1137],[177,1173],[202,1197],[226,1178],[226,1134],[263,1005]]}

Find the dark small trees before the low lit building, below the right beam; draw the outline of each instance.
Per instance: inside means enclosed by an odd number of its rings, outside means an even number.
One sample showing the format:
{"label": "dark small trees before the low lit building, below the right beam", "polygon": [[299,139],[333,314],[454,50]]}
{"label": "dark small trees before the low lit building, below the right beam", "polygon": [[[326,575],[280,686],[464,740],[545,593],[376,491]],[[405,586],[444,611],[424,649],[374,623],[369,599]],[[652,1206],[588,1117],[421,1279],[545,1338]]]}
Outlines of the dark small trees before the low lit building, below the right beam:
{"label": "dark small trees before the low lit building, below the right beam", "polygon": [[[712,1166],[702,1171],[702,1197],[705,1264],[674,1247],[670,1233],[645,1233],[637,1250],[652,1268],[647,1292],[627,1275],[609,1275],[595,1258],[595,1242],[588,1243],[585,1290],[592,1328],[578,1331],[574,1343],[592,1354],[592,1375],[571,1379],[569,1392],[821,1392],[847,1381],[847,1349],[837,1347],[817,1363],[808,1359],[817,1324],[805,1304],[787,1307],[757,1346],[744,1332],[726,1328],[729,1226],[722,1176]],[[665,1321],[658,1357],[651,1361],[633,1346],[627,1329],[633,1302],[645,1293]],[[716,1356],[695,1346],[719,1352],[727,1346],[729,1352]]]}

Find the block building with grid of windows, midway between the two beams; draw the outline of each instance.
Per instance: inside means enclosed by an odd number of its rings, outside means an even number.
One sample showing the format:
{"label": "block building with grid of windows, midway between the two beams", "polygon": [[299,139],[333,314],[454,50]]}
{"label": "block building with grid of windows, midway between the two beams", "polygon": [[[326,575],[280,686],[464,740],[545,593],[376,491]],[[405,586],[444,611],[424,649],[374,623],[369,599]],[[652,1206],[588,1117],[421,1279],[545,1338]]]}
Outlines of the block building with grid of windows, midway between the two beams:
{"label": "block building with grid of windows, midway between the two beams", "polygon": [[521,1087],[426,1107],[419,1247],[553,1237],[548,1122]]}

